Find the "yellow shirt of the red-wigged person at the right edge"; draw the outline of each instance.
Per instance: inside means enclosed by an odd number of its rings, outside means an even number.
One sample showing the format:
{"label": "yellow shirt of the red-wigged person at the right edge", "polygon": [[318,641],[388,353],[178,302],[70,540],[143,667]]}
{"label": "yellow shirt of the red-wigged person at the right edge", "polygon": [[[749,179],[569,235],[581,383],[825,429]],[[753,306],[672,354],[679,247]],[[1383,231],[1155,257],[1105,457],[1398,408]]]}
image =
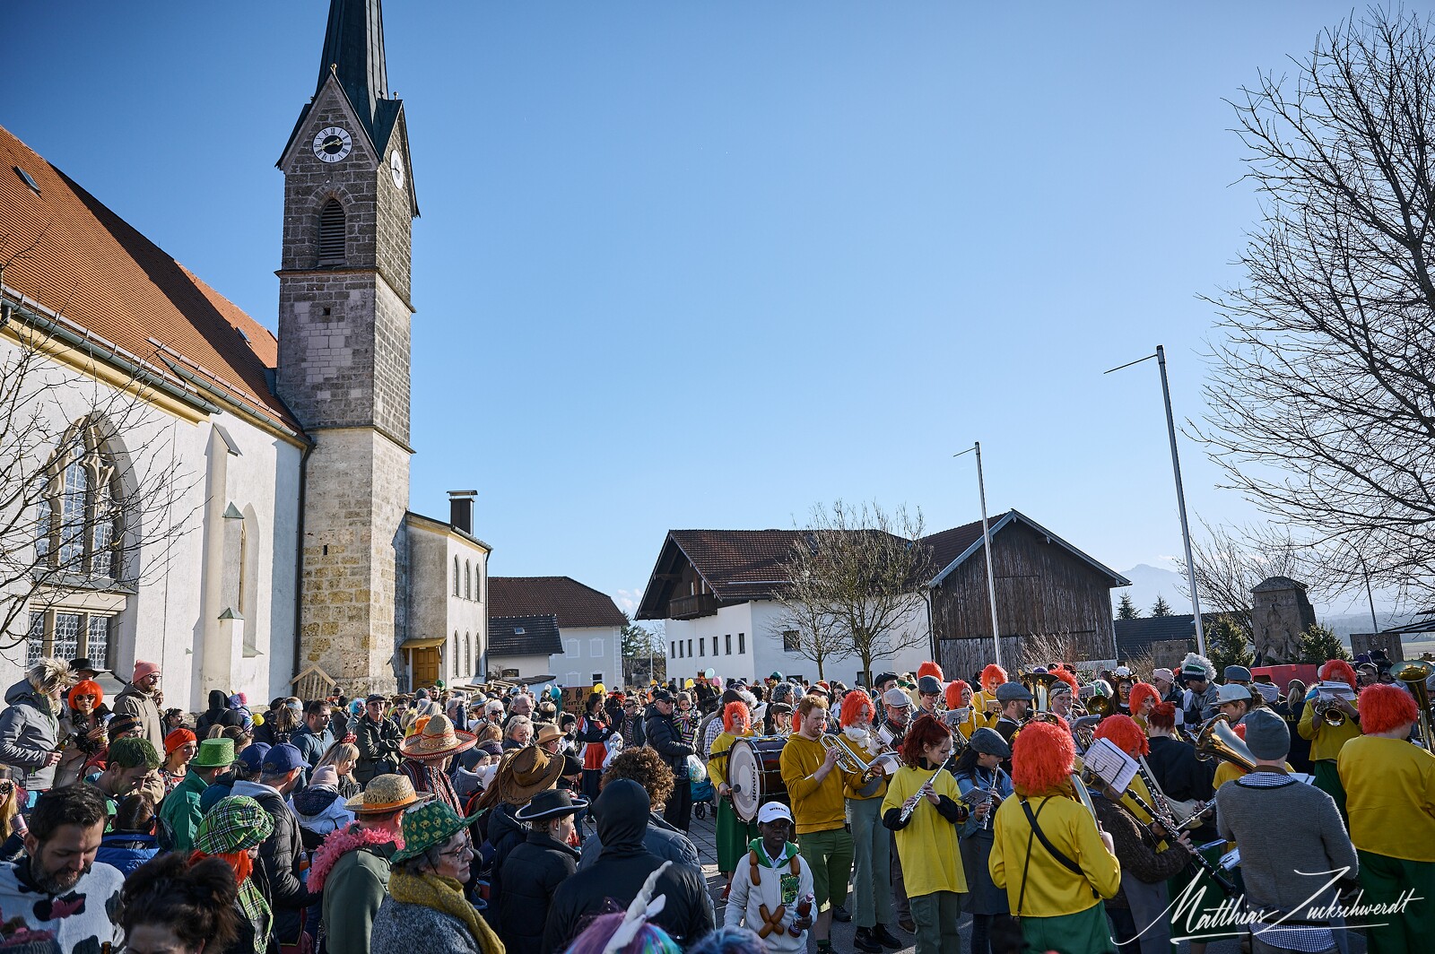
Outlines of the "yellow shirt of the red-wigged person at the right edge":
{"label": "yellow shirt of the red-wigged person at the right edge", "polygon": [[1336,768],[1356,848],[1435,861],[1435,756],[1403,739],[1360,736],[1340,750]]}

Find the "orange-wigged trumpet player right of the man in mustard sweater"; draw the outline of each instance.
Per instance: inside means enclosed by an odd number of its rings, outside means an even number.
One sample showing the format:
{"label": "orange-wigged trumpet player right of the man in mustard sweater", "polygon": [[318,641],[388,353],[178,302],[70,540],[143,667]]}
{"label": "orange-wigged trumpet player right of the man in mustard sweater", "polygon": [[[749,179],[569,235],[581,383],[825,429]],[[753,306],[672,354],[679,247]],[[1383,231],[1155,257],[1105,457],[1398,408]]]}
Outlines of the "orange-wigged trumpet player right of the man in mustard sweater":
{"label": "orange-wigged trumpet player right of the man in mustard sweater", "polygon": [[[875,713],[871,696],[860,689],[842,697],[842,735],[838,736],[838,745],[861,765],[871,763],[883,752],[883,745],[872,732]],[[867,954],[878,954],[884,945],[905,947],[883,922],[891,894],[893,849],[891,832],[881,823],[887,776],[880,775],[865,785],[848,776],[842,795],[847,798],[847,822],[852,831],[852,921],[857,924],[852,947]]]}

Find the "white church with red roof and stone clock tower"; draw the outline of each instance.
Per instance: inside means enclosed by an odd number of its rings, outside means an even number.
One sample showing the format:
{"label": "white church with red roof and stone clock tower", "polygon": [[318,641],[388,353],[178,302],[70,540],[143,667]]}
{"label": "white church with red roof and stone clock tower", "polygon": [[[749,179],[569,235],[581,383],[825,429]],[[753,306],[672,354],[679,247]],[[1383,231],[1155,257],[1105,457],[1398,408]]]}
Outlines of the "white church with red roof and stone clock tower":
{"label": "white church with red roof and stone clock tower", "polygon": [[484,673],[474,492],[409,509],[419,205],[380,0],[331,0],[278,156],[278,336],[4,128],[0,165],[4,684],[139,658],[202,709]]}

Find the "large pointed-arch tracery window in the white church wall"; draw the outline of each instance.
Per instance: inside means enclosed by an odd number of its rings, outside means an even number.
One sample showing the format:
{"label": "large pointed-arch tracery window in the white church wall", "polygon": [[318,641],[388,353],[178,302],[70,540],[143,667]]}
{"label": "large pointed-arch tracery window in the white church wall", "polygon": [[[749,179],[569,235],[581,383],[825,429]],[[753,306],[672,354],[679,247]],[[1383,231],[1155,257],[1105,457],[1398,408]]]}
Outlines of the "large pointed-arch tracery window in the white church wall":
{"label": "large pointed-arch tracery window in the white church wall", "polygon": [[99,425],[80,422],[50,462],[49,492],[39,504],[40,568],[96,582],[116,580],[121,515],[113,456]]}

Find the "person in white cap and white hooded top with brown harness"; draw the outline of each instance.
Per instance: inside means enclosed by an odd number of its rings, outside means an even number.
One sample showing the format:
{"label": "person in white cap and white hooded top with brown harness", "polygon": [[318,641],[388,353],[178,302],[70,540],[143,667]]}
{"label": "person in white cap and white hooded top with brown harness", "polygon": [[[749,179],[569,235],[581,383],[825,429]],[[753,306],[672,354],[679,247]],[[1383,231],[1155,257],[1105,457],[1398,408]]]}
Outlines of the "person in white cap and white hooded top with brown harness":
{"label": "person in white cap and white hooded top with brown harness", "polygon": [[758,833],[732,877],[723,924],[756,931],[768,951],[806,951],[812,869],[788,841],[792,833],[788,806],[763,805],[758,811]]}

